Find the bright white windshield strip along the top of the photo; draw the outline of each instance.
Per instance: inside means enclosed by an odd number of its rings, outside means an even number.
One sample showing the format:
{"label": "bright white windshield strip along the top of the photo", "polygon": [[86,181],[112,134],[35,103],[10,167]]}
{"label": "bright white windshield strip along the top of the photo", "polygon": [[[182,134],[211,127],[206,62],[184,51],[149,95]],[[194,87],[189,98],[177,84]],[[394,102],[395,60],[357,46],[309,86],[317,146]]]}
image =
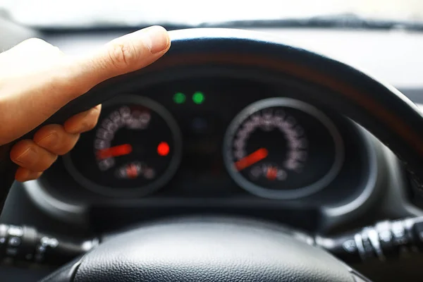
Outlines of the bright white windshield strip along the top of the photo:
{"label": "bright white windshield strip along the top of the photo", "polygon": [[422,0],[0,0],[3,13],[32,26],[200,25],[354,14],[423,22]]}

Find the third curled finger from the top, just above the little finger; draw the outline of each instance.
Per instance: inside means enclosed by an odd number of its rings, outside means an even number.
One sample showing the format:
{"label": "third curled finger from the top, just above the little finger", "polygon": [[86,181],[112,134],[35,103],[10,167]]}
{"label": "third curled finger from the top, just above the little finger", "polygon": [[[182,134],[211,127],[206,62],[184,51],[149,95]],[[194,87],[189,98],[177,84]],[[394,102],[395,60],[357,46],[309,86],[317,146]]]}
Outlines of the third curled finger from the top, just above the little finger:
{"label": "third curled finger from the top, just above the little finger", "polygon": [[21,140],[12,147],[11,159],[18,166],[41,172],[56,161],[57,155],[39,147],[32,140]]}

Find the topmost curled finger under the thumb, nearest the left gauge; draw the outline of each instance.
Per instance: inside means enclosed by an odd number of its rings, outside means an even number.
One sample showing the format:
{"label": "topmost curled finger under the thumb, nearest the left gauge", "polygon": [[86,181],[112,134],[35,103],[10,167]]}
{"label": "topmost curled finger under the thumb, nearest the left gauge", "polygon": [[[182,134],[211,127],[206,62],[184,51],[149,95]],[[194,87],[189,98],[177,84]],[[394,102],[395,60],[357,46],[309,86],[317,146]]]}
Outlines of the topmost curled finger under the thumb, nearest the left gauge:
{"label": "topmost curled finger under the thumb, nearest the left gauge", "polygon": [[92,130],[97,125],[101,110],[102,105],[98,105],[88,111],[76,114],[65,122],[64,130],[74,134]]}

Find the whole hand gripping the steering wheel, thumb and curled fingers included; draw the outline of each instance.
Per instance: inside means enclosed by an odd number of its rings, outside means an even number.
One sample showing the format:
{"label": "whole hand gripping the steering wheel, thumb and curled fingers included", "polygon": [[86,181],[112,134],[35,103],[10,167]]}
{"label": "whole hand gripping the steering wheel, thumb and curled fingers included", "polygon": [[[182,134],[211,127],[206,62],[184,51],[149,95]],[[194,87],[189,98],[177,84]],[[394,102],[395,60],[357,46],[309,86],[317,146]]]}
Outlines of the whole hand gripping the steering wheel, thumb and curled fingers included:
{"label": "whole hand gripping the steering wheel, thumb and curled fingers included", "polygon": [[[108,78],[143,68],[170,47],[163,27],[148,27],[114,39],[90,56],[71,57],[41,39],[28,39],[0,54],[0,145],[37,127],[62,106]],[[38,178],[80,133],[94,128],[101,106],[63,125],[46,125],[32,140],[20,140],[10,157],[16,180]]]}

